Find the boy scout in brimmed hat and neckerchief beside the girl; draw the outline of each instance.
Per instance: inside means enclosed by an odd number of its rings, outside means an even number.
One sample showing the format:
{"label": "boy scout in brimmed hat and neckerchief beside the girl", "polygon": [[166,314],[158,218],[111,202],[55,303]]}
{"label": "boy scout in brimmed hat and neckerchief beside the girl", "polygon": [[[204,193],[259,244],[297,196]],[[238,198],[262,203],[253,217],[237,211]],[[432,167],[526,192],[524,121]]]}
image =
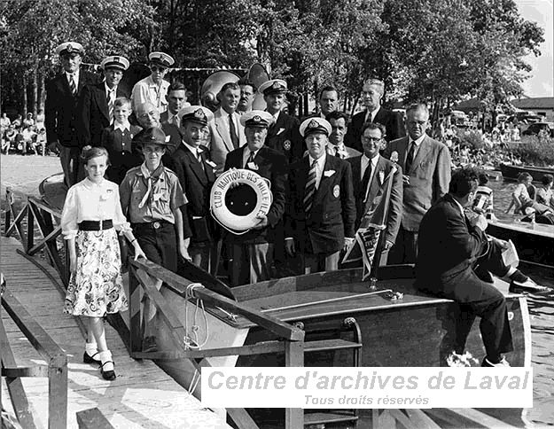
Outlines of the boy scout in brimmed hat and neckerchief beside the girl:
{"label": "boy scout in brimmed hat and neckerchief beside the girl", "polygon": [[[189,239],[183,237],[180,207],[187,203],[176,174],[161,163],[168,143],[159,128],[137,135],[144,163],[131,168],[120,185],[121,208],[126,214],[146,257],[171,271],[177,269],[177,251],[189,259]],[[156,284],[160,289],[161,282]],[[156,348],[155,307],[144,301],[144,351]]]}

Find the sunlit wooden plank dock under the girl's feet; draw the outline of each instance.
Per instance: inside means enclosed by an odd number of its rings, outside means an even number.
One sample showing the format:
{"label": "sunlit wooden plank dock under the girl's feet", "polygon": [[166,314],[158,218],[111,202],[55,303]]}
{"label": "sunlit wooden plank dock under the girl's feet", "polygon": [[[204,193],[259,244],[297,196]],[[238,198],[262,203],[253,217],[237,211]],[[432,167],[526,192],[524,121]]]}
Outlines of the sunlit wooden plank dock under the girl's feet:
{"label": "sunlit wooden plank dock under the girl's feet", "polygon": [[[58,273],[46,263],[42,264],[44,271],[18,253],[17,249],[22,247],[16,238],[0,239],[1,269],[8,290],[66,352],[67,427],[78,427],[77,412],[94,408],[98,408],[114,427],[126,429],[230,427],[225,424],[224,417],[202,408],[196,398],[155,363],[130,358],[119,334],[109,324],[105,324],[106,339],[113,353],[117,378],[111,382],[105,381],[100,370],[82,363],[85,342],[82,329],[74,316],[63,314],[63,293],[55,284],[58,282],[61,285]],[[2,312],[2,321],[16,362],[21,366],[43,363],[43,358],[5,312]],[[48,378],[21,380],[35,426],[46,427]],[[4,408],[13,412],[4,383],[2,398]]]}

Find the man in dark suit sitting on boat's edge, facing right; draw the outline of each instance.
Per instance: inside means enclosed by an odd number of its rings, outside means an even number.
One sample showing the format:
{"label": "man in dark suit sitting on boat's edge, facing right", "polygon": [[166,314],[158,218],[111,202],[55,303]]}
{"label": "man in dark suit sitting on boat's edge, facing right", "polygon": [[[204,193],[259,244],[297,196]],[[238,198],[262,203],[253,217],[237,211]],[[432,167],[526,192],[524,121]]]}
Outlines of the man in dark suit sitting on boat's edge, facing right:
{"label": "man in dark suit sitting on boat's edge, facing right", "polygon": [[459,303],[459,334],[469,332],[474,317],[480,316],[487,350],[482,366],[509,366],[503,357],[513,350],[506,300],[491,274],[510,281],[510,292],[535,284],[519,269],[504,265],[502,251],[507,244],[485,234],[484,215],[470,220],[464,214],[464,208],[472,206],[478,184],[475,169],[456,170],[449,193],[424,215],[417,243],[416,287]]}

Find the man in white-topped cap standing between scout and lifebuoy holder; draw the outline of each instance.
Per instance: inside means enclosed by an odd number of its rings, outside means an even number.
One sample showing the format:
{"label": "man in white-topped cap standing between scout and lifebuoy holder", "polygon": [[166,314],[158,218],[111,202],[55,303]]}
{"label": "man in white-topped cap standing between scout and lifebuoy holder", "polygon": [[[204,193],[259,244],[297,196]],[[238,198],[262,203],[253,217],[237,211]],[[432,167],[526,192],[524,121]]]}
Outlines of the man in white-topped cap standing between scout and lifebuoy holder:
{"label": "man in white-topped cap standing between scout and lifebuoy holder", "polygon": [[209,121],[214,114],[200,105],[184,107],[178,113],[183,142],[173,152],[176,172],[188,203],[183,206],[183,234],[190,237],[188,246],[192,263],[215,273],[215,222],[209,210],[210,191],[215,182],[215,163],[202,145]]}

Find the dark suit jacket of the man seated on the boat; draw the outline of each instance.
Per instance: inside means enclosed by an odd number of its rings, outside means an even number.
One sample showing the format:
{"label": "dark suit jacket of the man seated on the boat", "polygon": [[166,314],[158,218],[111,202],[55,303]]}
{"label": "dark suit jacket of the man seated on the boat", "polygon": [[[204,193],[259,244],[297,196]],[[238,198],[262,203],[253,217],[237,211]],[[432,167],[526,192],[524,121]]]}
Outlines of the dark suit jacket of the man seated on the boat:
{"label": "dark suit jacket of the man seated on the boat", "polygon": [[[452,292],[452,277],[468,269],[487,246],[487,235],[473,227],[450,194],[423,217],[417,238],[417,287]],[[456,283],[456,282],[454,282]],[[480,297],[475,297],[478,299]]]}

